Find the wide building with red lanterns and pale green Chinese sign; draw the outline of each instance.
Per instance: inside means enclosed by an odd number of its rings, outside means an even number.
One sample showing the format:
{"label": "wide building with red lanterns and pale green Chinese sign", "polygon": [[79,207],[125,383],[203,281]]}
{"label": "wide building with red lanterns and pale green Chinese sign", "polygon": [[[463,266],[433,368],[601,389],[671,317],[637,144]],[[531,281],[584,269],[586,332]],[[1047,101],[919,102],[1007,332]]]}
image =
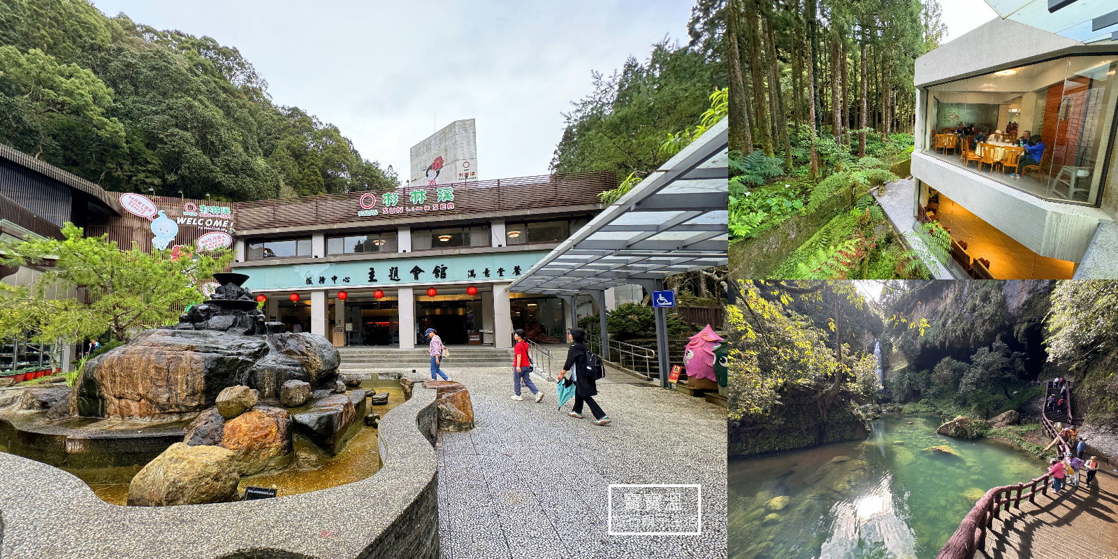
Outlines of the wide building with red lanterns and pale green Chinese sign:
{"label": "wide building with red lanterns and pale green Chinese sign", "polygon": [[413,349],[427,328],[447,344],[509,348],[518,328],[561,343],[575,301],[509,285],[616,184],[587,172],[238,202],[231,266],[269,320],[335,345]]}

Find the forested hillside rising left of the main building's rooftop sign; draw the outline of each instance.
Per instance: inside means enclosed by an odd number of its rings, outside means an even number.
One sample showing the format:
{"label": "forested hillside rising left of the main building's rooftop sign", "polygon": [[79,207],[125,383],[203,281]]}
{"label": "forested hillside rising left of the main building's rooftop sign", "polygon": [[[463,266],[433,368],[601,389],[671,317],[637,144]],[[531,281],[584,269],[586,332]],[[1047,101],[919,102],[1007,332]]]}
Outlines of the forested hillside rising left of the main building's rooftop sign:
{"label": "forested hillside rising left of the main building's rooftop sign", "polygon": [[0,143],[117,191],[254,200],[396,184],[335,126],[274,104],[236,48],[86,0],[0,2]]}

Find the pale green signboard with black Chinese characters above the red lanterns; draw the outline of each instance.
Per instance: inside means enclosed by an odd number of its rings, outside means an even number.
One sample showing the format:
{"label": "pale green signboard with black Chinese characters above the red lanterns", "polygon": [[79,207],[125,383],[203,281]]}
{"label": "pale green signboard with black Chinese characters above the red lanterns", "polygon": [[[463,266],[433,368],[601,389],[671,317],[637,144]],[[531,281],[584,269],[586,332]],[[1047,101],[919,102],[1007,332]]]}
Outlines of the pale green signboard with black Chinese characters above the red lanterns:
{"label": "pale green signboard with black Chinese characters above the red lanterns", "polygon": [[245,287],[253,291],[511,282],[547,254],[547,250],[519,250],[448,256],[407,255],[368,260],[245,266],[236,271],[248,274]]}

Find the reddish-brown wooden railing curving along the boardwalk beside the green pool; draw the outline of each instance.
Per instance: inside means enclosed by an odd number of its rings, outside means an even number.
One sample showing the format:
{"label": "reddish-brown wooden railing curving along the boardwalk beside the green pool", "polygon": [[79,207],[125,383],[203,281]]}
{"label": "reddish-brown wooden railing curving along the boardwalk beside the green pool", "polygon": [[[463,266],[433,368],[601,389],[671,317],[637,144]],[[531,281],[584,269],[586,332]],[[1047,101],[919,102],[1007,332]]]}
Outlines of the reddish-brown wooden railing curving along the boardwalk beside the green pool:
{"label": "reddish-brown wooden railing curving along the boardwalk beside the green pool", "polygon": [[[1044,401],[1048,401],[1048,396],[1055,389],[1054,382],[1049,382],[1048,388],[1044,392]],[[1068,382],[1068,399],[1065,402],[1068,409],[1068,421],[1071,423],[1071,382]],[[1045,406],[1045,411],[1048,406]],[[1068,452],[1071,452],[1071,447],[1068,442],[1060,436],[1055,430],[1055,425],[1044,414],[1041,414],[1041,425],[1044,426],[1044,433],[1050,437],[1057,439],[1057,447],[1060,449],[1060,456],[1063,456]],[[975,553],[983,549],[986,544],[986,530],[994,527],[994,519],[998,518],[998,514],[1003,509],[1008,510],[1011,506],[1015,509],[1021,508],[1021,501],[1029,499],[1030,503],[1036,504],[1036,493],[1048,496],[1048,484],[1052,474],[1044,474],[1036,477],[1027,483],[1017,483],[1015,485],[1003,485],[1001,487],[994,487],[986,492],[982,499],[975,503],[970,512],[963,518],[963,522],[959,523],[959,528],[955,530],[955,533],[948,538],[947,543],[939,550],[939,555],[936,559],[972,559]],[[1025,493],[1025,490],[1029,490]]]}

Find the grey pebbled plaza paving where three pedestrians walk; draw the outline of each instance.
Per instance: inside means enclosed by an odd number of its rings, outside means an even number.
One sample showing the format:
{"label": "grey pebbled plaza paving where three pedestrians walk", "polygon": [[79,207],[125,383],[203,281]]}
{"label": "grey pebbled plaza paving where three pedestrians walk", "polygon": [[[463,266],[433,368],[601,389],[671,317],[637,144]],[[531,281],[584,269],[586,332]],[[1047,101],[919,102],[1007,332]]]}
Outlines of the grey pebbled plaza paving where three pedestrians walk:
{"label": "grey pebbled plaza paving where three pedestrians walk", "polygon": [[[475,428],[439,434],[444,558],[726,557],[724,408],[610,372],[599,427],[557,409],[553,383],[514,401],[503,368],[455,372]],[[608,485],[647,483],[701,484],[702,534],[610,536]]]}

